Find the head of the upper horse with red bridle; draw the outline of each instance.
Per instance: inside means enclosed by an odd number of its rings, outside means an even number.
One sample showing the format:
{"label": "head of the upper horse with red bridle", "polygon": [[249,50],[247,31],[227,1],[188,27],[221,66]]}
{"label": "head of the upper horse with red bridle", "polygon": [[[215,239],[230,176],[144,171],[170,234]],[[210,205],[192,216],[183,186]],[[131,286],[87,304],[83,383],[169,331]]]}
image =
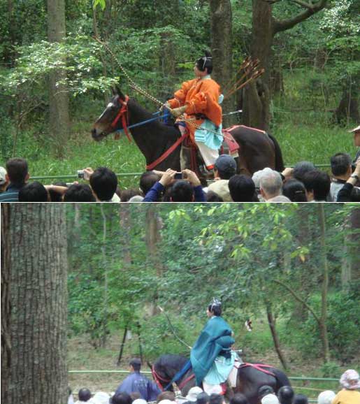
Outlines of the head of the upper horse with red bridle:
{"label": "head of the upper horse with red bridle", "polygon": [[120,89],[113,89],[113,97],[94,123],[92,138],[99,142],[118,129],[122,129],[122,116],[127,119],[127,96]]}

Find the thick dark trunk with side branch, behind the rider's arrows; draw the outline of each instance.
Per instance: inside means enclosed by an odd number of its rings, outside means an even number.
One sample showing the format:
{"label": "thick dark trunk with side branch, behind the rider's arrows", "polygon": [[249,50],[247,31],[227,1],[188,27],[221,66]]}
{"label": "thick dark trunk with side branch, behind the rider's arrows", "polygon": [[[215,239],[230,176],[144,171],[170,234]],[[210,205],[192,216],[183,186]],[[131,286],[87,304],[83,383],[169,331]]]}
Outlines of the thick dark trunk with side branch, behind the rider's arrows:
{"label": "thick dark trunk with side branch, behind the rider's arrows", "polygon": [[252,1],[251,55],[253,59],[259,59],[259,68],[265,68],[265,73],[260,80],[250,82],[245,87],[243,123],[264,130],[268,130],[270,124],[269,69],[273,35],[273,17],[270,4],[264,0]]}

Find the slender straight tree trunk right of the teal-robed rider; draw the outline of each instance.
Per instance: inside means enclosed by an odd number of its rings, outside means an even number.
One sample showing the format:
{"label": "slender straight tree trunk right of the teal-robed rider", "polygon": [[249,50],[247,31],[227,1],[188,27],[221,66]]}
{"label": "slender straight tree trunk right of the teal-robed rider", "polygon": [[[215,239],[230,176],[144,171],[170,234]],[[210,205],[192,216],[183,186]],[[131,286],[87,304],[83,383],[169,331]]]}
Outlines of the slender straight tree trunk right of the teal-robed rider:
{"label": "slender straight tree trunk right of the teal-robed rider", "polygon": [[329,340],[327,335],[326,318],[327,318],[327,291],[329,286],[329,266],[326,251],[326,224],[324,203],[317,203],[317,215],[319,219],[320,229],[320,257],[323,268],[322,275],[322,314],[320,317],[320,334],[322,338],[322,356],[324,363],[329,362]]}

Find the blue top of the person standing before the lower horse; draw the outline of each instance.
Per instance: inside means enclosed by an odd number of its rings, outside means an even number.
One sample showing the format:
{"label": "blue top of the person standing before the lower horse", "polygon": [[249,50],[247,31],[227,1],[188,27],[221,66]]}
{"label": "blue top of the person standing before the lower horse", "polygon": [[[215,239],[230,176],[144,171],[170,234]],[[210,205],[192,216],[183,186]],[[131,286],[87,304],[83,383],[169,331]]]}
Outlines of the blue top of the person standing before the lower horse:
{"label": "blue top of the person standing before the lower horse", "polygon": [[157,396],[161,393],[159,387],[147,379],[140,372],[134,372],[129,375],[115,391],[115,394],[119,393],[135,393],[141,394],[141,398],[145,401],[156,401]]}

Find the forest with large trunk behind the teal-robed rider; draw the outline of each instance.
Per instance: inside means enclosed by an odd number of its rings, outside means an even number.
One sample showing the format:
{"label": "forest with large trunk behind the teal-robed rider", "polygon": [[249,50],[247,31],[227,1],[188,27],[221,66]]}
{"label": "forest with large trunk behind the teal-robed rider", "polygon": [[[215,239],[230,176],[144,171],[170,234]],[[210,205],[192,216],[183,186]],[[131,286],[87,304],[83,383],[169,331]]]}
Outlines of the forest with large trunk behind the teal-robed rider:
{"label": "forest with large trunk behind the teal-robed rider", "polygon": [[69,374],[74,391],[114,391],[124,375],[86,372],[188,356],[173,331],[193,345],[213,297],[245,361],[338,380],[360,365],[359,229],[352,204],[4,205],[1,393],[41,403],[66,394],[67,370],[84,372]]}

